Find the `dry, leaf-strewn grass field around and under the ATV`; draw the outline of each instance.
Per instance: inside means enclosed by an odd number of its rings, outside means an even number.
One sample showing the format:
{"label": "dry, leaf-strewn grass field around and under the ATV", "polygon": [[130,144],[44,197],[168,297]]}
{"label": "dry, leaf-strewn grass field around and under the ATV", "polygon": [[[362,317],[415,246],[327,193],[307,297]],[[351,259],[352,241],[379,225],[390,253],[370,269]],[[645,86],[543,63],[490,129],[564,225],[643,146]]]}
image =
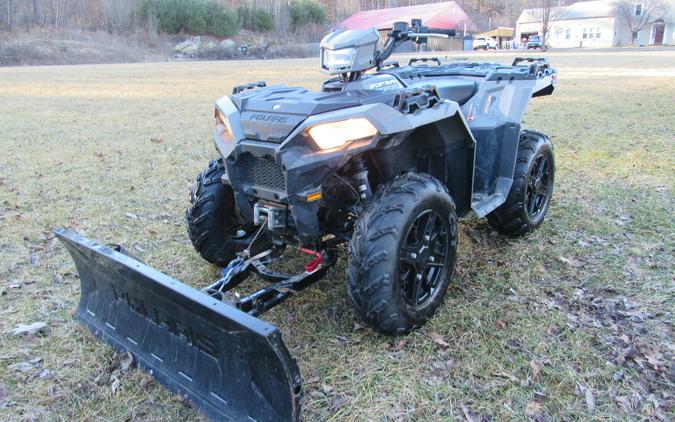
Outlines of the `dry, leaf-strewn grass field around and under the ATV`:
{"label": "dry, leaf-strewn grass field around and under the ATV", "polygon": [[[673,419],[675,51],[548,56],[559,88],[524,122],[556,147],[539,231],[508,239],[464,221],[448,298],[407,337],[361,327],[344,259],[265,315],[300,364],[306,420]],[[183,218],[215,156],[213,101],[260,79],[317,89],[317,68],[0,69],[0,420],[200,419],[73,319],[79,282],[50,230],[123,243],[195,285],[214,279]],[[34,322],[41,333],[10,334]]]}

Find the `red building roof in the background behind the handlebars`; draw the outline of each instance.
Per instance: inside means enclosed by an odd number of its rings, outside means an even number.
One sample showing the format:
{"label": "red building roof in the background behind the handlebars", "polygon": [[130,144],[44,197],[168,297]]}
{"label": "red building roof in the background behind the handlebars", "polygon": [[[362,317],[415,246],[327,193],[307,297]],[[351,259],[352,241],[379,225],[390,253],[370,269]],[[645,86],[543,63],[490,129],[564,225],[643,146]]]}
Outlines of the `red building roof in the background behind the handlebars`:
{"label": "red building roof in the background behind the handlebars", "polygon": [[422,25],[430,28],[463,29],[466,24],[467,30],[476,30],[469,16],[454,1],[364,10],[354,13],[339,26],[342,29],[390,29],[394,22],[410,22],[412,19],[422,19]]}

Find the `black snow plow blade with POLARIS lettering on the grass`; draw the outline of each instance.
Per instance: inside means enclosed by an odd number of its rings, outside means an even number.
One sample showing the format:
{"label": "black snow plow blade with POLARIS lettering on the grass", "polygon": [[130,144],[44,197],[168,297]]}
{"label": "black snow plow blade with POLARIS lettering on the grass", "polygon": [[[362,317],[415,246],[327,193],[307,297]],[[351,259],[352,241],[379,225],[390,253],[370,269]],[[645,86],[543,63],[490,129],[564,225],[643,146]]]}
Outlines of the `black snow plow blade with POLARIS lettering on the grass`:
{"label": "black snow plow blade with POLARIS lettering on the grass", "polygon": [[299,420],[302,380],[273,325],[77,233],[77,318],[213,420]]}

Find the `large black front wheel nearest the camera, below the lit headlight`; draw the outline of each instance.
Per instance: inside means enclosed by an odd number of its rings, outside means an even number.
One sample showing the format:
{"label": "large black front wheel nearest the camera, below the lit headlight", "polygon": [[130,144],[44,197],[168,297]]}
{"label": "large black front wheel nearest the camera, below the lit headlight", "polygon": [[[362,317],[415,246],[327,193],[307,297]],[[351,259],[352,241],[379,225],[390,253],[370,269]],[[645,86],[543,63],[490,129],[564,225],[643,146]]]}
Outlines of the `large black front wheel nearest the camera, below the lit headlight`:
{"label": "large black front wheel nearest the camera, below the lit headlight", "polygon": [[438,309],[457,254],[457,213],[445,186],[409,173],[380,188],[349,243],[349,296],[375,330],[405,334]]}

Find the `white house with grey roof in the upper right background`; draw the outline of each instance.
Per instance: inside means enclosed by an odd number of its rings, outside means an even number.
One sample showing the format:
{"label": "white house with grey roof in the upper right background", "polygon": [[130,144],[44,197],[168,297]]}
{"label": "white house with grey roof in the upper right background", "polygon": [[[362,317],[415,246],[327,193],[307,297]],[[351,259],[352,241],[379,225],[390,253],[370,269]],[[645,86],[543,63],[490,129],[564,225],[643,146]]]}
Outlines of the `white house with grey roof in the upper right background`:
{"label": "white house with grey roof in the upper right background", "polygon": [[[633,13],[642,13],[636,0]],[[668,19],[645,26],[635,45],[675,44],[673,8]],[[525,9],[516,22],[516,39],[542,34],[541,9]],[[614,0],[584,1],[554,7],[546,44],[552,48],[616,47],[630,45],[631,32]]]}

